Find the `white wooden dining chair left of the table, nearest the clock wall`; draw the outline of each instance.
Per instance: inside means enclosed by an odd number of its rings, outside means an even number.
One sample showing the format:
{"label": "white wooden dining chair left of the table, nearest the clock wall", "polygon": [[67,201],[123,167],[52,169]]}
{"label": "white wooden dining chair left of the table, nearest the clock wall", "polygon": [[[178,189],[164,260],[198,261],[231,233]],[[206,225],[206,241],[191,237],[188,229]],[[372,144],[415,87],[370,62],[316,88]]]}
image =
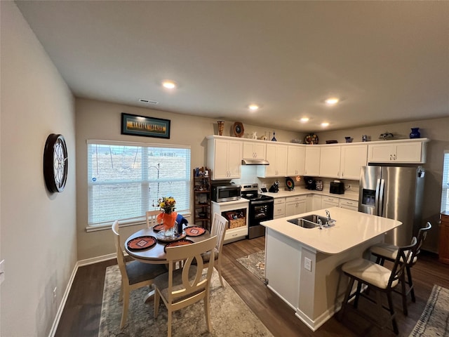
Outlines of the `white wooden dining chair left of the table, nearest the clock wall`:
{"label": "white wooden dining chair left of the table, nearest the clock wall", "polygon": [[151,286],[154,277],[167,272],[165,265],[152,265],[139,261],[130,261],[126,263],[125,255],[120,242],[119,221],[114,221],[112,232],[115,237],[115,246],[117,251],[117,263],[121,274],[120,300],[123,300],[123,310],[121,312],[120,329],[128,319],[128,305],[130,292],[142,286]]}

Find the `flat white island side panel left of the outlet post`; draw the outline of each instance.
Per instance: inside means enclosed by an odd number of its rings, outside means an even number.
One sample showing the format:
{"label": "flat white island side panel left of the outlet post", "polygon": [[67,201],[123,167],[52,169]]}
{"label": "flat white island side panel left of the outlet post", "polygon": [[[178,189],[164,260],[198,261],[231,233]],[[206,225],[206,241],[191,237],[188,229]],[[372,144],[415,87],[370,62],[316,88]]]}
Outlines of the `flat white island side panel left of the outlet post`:
{"label": "flat white island side panel left of the outlet post", "polygon": [[297,310],[300,291],[301,246],[267,228],[265,235],[265,277],[267,286]]}

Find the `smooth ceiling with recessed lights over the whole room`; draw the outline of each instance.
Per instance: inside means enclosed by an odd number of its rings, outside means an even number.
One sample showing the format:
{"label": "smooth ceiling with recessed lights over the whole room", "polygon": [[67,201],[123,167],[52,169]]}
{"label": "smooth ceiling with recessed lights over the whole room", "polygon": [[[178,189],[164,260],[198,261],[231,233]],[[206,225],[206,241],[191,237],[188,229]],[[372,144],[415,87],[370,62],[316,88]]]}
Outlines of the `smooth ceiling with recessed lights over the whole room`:
{"label": "smooth ceiling with recessed lights over the whole room", "polygon": [[449,116],[449,1],[16,4],[79,98],[299,132]]}

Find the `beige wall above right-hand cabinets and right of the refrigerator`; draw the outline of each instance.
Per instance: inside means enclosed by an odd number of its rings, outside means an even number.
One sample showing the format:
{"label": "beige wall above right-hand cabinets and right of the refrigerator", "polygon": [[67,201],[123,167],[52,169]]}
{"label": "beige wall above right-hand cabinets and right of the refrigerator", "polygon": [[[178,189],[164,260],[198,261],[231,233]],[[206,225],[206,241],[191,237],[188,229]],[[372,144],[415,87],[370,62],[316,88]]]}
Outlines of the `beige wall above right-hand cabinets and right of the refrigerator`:
{"label": "beige wall above right-hand cabinets and right of the refrigerator", "polygon": [[[449,108],[448,108],[449,109]],[[449,115],[449,111],[448,111]],[[438,119],[424,119],[422,121],[408,121],[396,124],[351,128],[342,131],[328,131],[319,133],[320,143],[326,140],[337,140],[344,143],[345,136],[360,142],[362,135],[368,135],[371,140],[379,140],[381,133],[393,133],[397,137],[409,138],[411,128],[419,127],[422,138],[430,138],[427,143],[427,163],[424,183],[424,202],[422,205],[422,225],[427,221],[432,229],[424,242],[424,249],[438,252],[438,220],[441,205],[441,184],[443,180],[443,151],[449,150],[449,117]],[[407,191],[404,191],[407,193]]]}

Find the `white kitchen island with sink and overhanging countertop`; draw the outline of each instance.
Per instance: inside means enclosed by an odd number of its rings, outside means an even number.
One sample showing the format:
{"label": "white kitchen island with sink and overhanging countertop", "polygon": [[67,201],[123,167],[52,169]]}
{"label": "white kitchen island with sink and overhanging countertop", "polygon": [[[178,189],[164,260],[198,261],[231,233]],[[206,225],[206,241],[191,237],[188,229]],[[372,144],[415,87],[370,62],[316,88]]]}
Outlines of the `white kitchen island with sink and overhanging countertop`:
{"label": "white kitchen island with sink and overhanging countertop", "polygon": [[370,258],[369,247],[400,221],[332,207],[333,227],[304,228],[288,220],[324,209],[264,221],[267,286],[313,331],[340,310],[347,277],[340,266],[353,258]]}

